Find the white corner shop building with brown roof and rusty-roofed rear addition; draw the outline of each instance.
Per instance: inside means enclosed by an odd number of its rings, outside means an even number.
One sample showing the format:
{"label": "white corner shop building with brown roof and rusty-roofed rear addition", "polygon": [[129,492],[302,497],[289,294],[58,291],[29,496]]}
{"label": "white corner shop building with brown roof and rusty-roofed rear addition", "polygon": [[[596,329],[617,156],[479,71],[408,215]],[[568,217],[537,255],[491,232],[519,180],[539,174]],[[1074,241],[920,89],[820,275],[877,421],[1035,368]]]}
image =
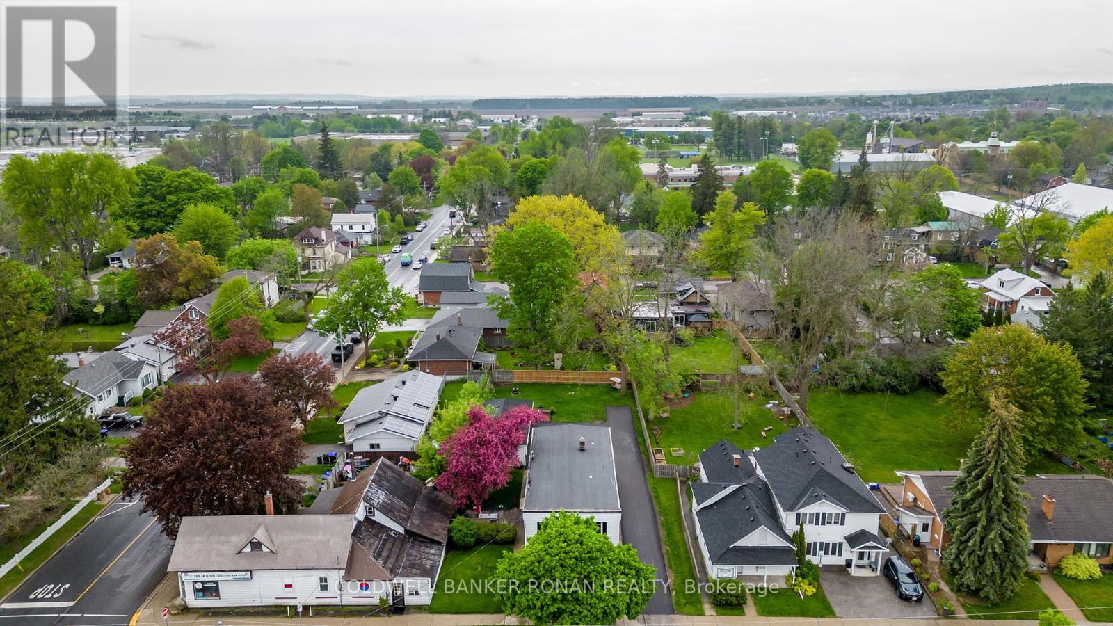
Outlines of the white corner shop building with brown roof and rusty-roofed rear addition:
{"label": "white corner shop building with brown roof and rusty-roofed rear addition", "polygon": [[186,517],[168,571],[190,608],[429,605],[452,499],[381,459],[331,515]]}

